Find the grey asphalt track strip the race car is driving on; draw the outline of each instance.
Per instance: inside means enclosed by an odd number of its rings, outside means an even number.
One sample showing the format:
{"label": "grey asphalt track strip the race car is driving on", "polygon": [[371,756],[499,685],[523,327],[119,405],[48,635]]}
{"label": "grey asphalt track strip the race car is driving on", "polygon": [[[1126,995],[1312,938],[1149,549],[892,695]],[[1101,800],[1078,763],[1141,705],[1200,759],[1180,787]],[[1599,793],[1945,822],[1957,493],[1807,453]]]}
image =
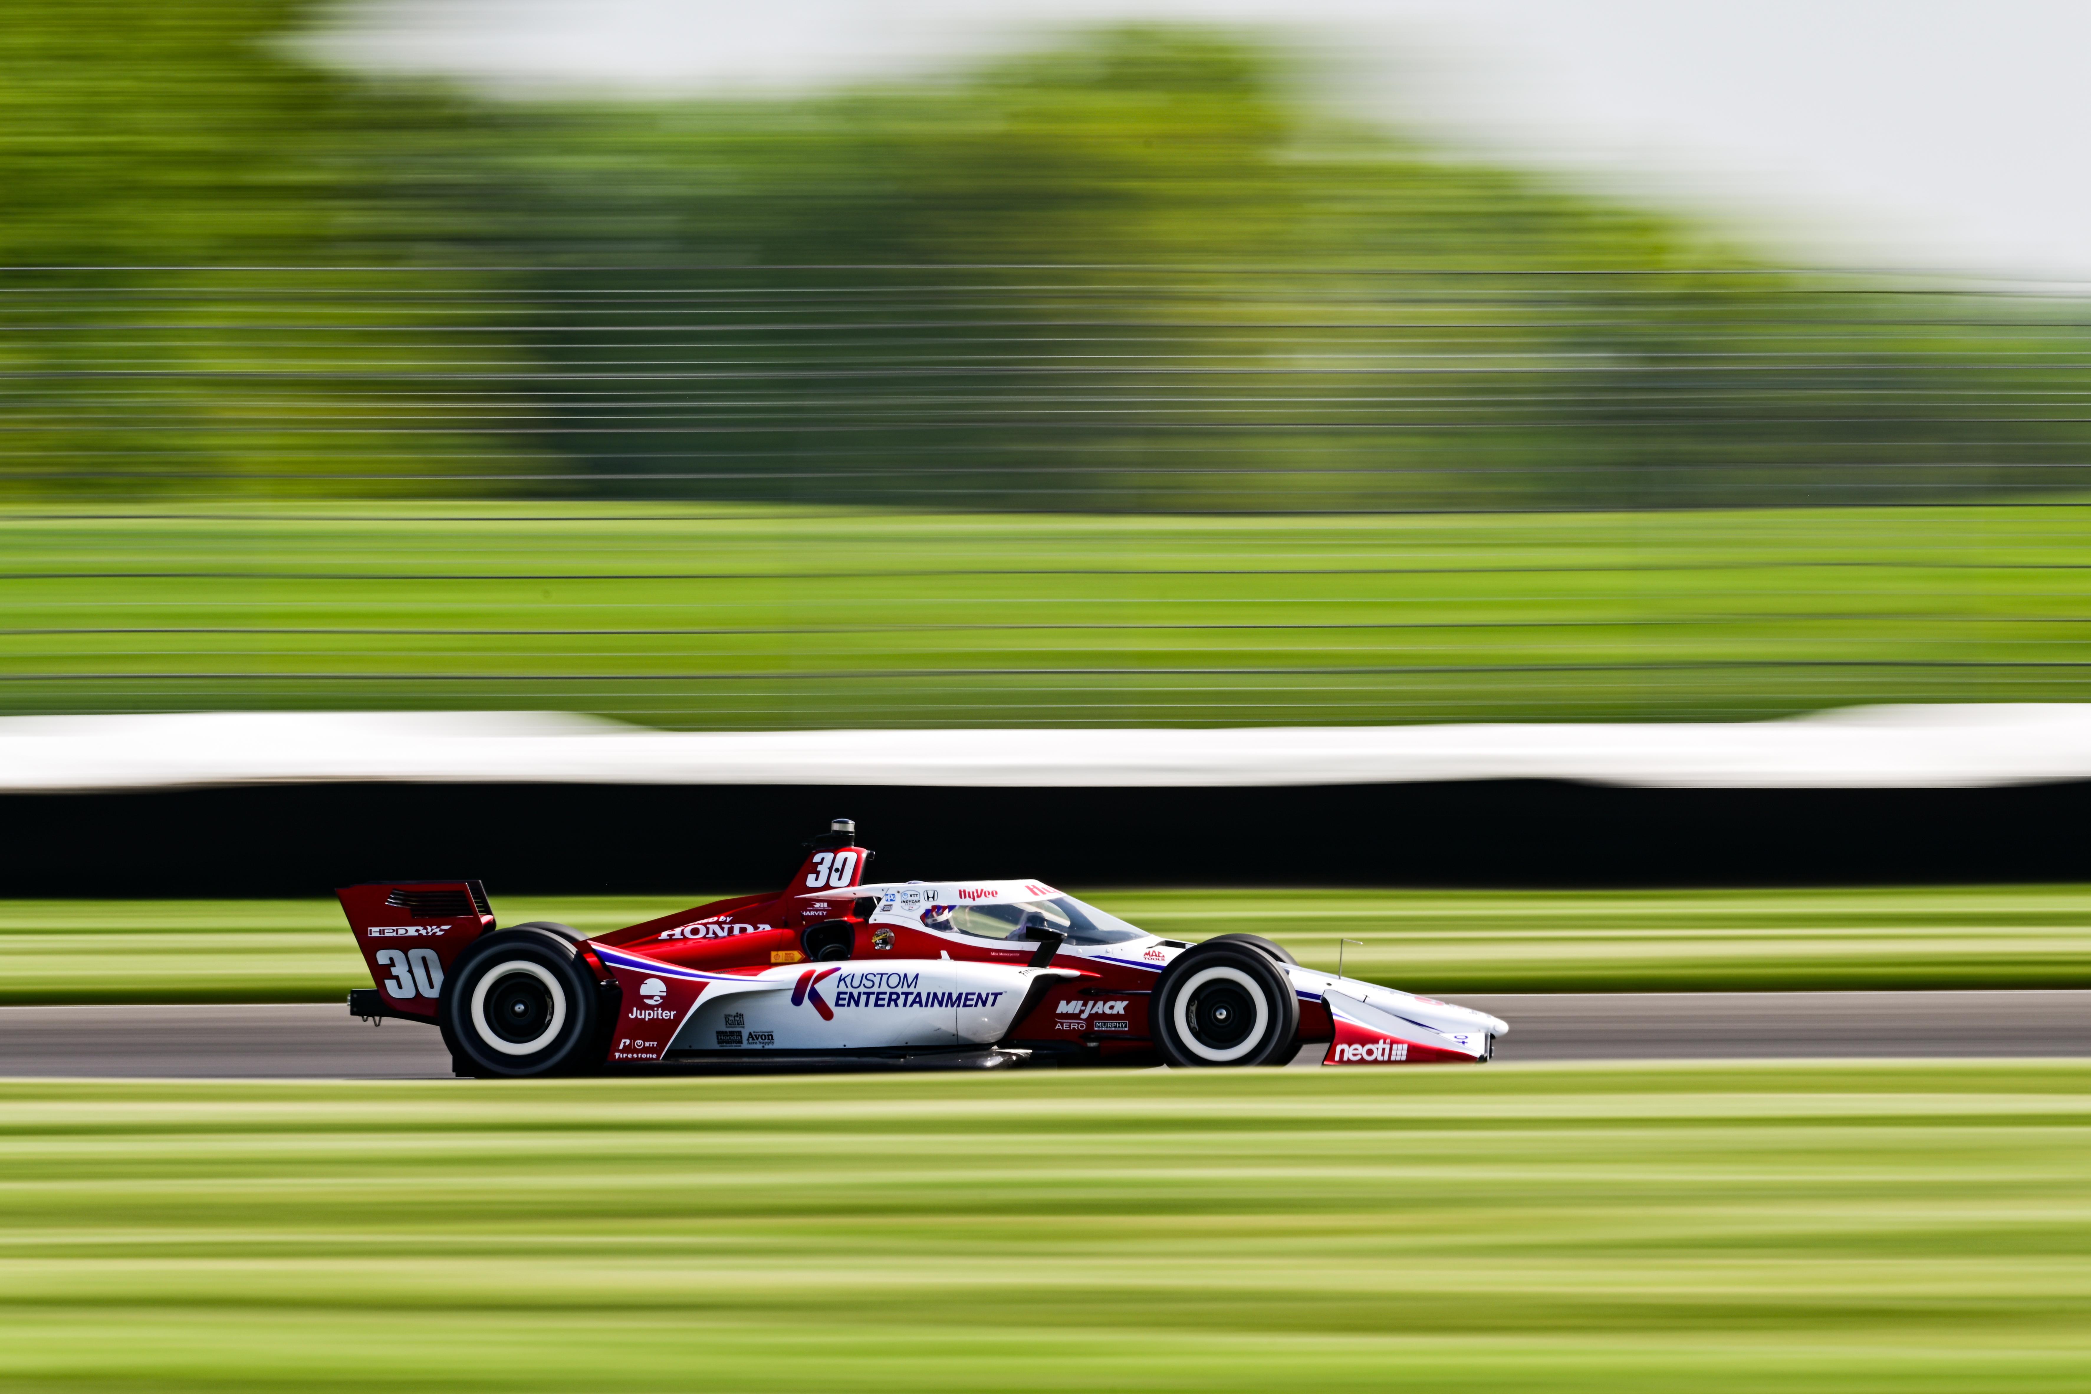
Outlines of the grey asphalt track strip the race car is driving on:
{"label": "grey asphalt track strip the race car is driving on", "polygon": [[[2091,1055],[2091,991],[1478,995],[1497,1060]],[[0,1076],[447,1078],[433,1026],[339,1003],[0,1007]]]}

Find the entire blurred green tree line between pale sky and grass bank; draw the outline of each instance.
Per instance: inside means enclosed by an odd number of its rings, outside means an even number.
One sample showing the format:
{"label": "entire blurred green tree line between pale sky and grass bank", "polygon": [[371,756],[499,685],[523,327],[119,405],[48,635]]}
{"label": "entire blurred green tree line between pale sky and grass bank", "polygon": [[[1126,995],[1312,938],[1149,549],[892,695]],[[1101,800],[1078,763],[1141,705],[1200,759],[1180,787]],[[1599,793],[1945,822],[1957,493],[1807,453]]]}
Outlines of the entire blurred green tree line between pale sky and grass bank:
{"label": "entire blurred green tree line between pale sky and grass bank", "polygon": [[10,17],[0,65],[54,77],[10,92],[0,146],[17,495],[1299,512],[2087,483],[2078,303],[1775,270],[1351,121],[1250,38],[489,104],[268,42],[316,17]]}

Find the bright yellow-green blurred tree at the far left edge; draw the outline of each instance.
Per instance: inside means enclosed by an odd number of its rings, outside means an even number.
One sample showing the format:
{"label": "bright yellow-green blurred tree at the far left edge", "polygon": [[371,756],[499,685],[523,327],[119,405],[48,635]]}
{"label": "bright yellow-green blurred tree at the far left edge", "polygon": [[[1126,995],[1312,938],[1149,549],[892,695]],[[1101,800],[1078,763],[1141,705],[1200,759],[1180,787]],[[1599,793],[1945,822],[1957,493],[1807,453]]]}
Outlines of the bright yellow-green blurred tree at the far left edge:
{"label": "bright yellow-green blurred tree at the far left edge", "polygon": [[523,468],[512,441],[427,412],[485,320],[456,303],[473,278],[429,257],[466,230],[406,199],[391,157],[456,107],[297,61],[284,36],[318,8],[8,6],[0,483],[368,489]]}

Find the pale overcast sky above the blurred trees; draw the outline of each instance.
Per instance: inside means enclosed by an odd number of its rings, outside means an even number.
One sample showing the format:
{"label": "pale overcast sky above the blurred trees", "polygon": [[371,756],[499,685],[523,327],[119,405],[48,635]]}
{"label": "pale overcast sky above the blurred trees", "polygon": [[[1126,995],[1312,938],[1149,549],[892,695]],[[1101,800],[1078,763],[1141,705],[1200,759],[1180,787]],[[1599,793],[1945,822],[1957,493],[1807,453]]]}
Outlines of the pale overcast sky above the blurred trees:
{"label": "pale overcast sky above the blurred trees", "polygon": [[1796,255],[2091,282],[2091,2],[374,0],[326,50],[506,92],[805,92],[1054,27],[1280,25],[1365,107]]}

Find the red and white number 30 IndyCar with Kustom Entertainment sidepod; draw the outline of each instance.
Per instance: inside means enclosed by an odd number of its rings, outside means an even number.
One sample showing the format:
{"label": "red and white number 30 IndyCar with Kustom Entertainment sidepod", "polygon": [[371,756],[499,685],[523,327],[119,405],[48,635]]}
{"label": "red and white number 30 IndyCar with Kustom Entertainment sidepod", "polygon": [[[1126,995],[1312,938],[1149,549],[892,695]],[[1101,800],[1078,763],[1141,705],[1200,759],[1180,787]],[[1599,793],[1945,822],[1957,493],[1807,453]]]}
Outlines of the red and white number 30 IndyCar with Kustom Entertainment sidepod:
{"label": "red and white number 30 IndyCar with Kustom Entertainment sidepod", "polygon": [[1301,968],[1255,934],[1148,934],[1033,880],[866,882],[834,819],[778,895],[588,936],[498,928],[479,882],[335,895],[362,1018],[443,1032],[458,1074],[1480,1062],[1510,1028]]}

